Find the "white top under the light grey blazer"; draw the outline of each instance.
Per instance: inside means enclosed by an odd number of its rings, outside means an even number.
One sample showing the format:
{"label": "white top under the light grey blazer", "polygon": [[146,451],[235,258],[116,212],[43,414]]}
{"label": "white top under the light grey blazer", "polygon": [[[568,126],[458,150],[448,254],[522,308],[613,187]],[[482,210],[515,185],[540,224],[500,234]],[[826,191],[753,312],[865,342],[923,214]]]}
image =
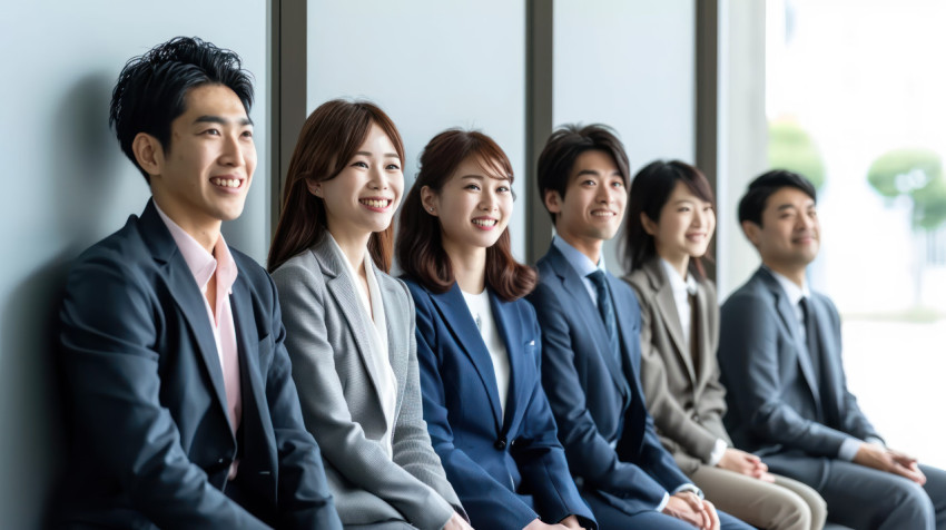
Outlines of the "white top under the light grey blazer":
{"label": "white top under the light grey blazer", "polygon": [[387,424],[387,430],[380,442],[387,453],[387,458],[392,458],[394,448],[392,446],[391,434],[394,432],[394,409],[397,405],[397,379],[394,375],[394,369],[391,367],[387,343],[387,318],[384,315],[384,300],[381,297],[381,287],[377,284],[377,277],[375,277],[374,264],[372,263],[371,254],[365,248],[362,259],[368,284],[367,292],[365,292],[365,286],[358,278],[358,273],[355,271],[352,262],[348,261],[348,256],[338,246],[338,242],[332,237],[331,233],[326,233],[326,236],[332,241],[338,254],[343,256],[342,261],[345,263],[345,274],[347,274],[352,285],[355,286],[355,293],[357,294],[358,302],[361,302],[358,305],[362,307],[362,316],[366,318],[366,322],[373,324],[368,325],[366,330],[371,342],[368,359],[374,365],[373,372],[378,374],[377,386],[381,391],[381,405],[384,412],[385,423]]}

